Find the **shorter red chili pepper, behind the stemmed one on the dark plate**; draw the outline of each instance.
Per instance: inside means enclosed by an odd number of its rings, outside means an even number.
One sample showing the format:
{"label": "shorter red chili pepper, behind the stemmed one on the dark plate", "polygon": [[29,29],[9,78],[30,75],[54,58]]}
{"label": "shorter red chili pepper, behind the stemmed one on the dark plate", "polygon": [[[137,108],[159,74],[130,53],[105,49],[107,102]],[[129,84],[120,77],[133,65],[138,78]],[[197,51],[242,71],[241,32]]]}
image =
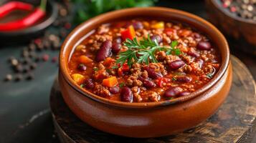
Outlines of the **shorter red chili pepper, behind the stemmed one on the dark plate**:
{"label": "shorter red chili pepper, behind the stemmed one on the dark plate", "polygon": [[34,9],[32,4],[27,4],[21,1],[10,1],[3,6],[0,6],[0,18],[14,10],[32,11],[32,9]]}

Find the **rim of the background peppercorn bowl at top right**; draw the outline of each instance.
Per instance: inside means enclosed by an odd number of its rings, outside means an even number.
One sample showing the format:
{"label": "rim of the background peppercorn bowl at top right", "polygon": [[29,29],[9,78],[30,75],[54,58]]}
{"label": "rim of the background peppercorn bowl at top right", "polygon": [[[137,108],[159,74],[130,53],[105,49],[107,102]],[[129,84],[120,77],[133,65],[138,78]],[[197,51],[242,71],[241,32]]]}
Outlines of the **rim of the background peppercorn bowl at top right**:
{"label": "rim of the background peppercorn bowl at top right", "polygon": [[253,21],[252,19],[243,19],[242,17],[240,16],[234,16],[233,14],[231,14],[231,12],[227,11],[227,9],[221,9],[221,4],[219,0],[208,0],[208,1],[212,1],[212,4],[217,8],[219,9],[219,11],[221,11],[223,14],[225,14],[226,16],[229,16],[231,17],[232,19],[235,19],[237,21],[240,21],[240,22],[244,22],[244,23],[247,23],[247,24],[256,24],[256,21]]}

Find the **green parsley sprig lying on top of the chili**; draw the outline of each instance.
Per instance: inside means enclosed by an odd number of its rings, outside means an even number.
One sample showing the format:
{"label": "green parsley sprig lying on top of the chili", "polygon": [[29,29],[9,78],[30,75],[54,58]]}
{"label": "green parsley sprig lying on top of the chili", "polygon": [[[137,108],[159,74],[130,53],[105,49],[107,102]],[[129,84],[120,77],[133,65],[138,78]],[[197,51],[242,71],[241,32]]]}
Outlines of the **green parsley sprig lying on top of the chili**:
{"label": "green parsley sprig lying on top of the chili", "polygon": [[150,36],[148,38],[143,38],[141,41],[135,37],[133,40],[126,39],[124,46],[127,46],[126,51],[120,52],[118,54],[118,59],[116,62],[123,66],[125,61],[127,61],[128,66],[135,62],[149,64],[150,62],[158,62],[156,60],[156,51],[166,51],[166,54],[181,54],[179,49],[174,49],[178,45],[178,41],[172,41],[170,47],[160,46],[156,40],[152,41]]}

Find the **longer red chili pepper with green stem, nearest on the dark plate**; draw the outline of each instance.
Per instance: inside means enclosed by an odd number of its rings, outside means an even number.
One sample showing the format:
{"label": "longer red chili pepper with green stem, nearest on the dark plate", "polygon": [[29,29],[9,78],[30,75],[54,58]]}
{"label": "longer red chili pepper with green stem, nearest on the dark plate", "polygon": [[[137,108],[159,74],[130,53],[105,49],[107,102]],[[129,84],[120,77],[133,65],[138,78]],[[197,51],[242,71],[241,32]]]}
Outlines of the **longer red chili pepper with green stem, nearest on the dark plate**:
{"label": "longer red chili pepper with green stem, nearest on the dark plate", "polygon": [[14,31],[32,26],[46,15],[45,6],[46,0],[42,0],[41,5],[23,19],[0,24],[0,31]]}

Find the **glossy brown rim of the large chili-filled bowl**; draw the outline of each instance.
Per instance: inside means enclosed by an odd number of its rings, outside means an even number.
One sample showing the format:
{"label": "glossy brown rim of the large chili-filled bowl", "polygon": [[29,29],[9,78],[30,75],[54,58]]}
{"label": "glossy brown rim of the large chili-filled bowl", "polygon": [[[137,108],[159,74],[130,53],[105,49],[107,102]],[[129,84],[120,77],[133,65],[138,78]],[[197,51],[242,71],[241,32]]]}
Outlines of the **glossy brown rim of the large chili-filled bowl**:
{"label": "glossy brown rim of the large chili-filled bowl", "polygon": [[[69,74],[69,69],[67,67],[67,63],[65,61],[65,54],[67,52],[66,49],[68,48],[69,44],[71,43],[72,40],[74,40],[75,35],[77,33],[80,33],[82,31],[82,29],[86,29],[86,27],[88,25],[93,24],[95,21],[98,21],[102,17],[104,17],[104,16],[113,16],[115,14],[125,15],[129,11],[130,12],[131,11],[138,12],[138,15],[141,11],[158,11],[158,12],[166,12],[166,13],[170,13],[170,14],[178,14],[179,16],[182,16],[183,18],[186,18],[187,21],[197,21],[197,22],[200,22],[202,24],[206,24],[209,29],[211,29],[212,31],[214,31],[214,33],[217,34],[219,39],[222,41],[222,45],[224,46],[223,47],[224,48],[224,54],[222,54],[224,56],[222,57],[222,64],[219,68],[219,71],[217,71],[217,74],[215,74],[215,76],[212,78],[212,80],[210,80],[202,88],[197,89],[195,92],[192,92],[188,96],[178,97],[176,99],[169,99],[169,100],[165,100],[165,101],[162,101],[162,102],[128,103],[128,102],[113,101],[113,100],[110,100],[110,99],[105,99],[103,97],[100,97],[96,94],[93,94],[93,93],[87,91],[86,89],[80,88],[75,83],[75,81],[72,80],[72,77]],[[117,16],[117,18],[118,18],[118,16]],[[100,22],[100,23],[102,23],[102,22]],[[205,32],[205,33],[207,34],[207,32]],[[80,41],[80,40],[78,40],[78,41]],[[75,43],[77,44],[78,41],[76,41]],[[72,46],[72,49],[73,49],[73,46]],[[70,53],[69,53],[69,56],[70,56]],[[70,59],[70,57],[66,57],[66,58],[68,58],[68,60]],[[118,10],[118,11],[111,11],[111,12],[108,12],[108,13],[105,13],[105,14],[100,14],[99,16],[96,16],[93,19],[89,19],[88,21],[85,21],[84,23],[77,26],[67,36],[64,43],[62,44],[62,47],[60,49],[60,60],[59,60],[59,62],[60,62],[60,74],[61,74],[60,76],[64,77],[65,82],[70,84],[70,86],[73,89],[75,89],[75,91],[80,92],[80,94],[84,95],[84,97],[88,97],[90,99],[93,99],[97,102],[102,102],[104,104],[110,104],[110,105],[113,105],[115,107],[126,107],[126,108],[163,107],[163,106],[167,106],[167,105],[171,105],[171,104],[177,104],[177,103],[185,102],[189,99],[193,99],[194,97],[197,97],[197,96],[203,94],[204,92],[207,92],[207,90],[209,90],[211,87],[213,87],[214,84],[216,84],[219,81],[219,79],[221,79],[223,77],[224,73],[227,71],[227,67],[229,66],[229,46],[227,44],[227,40],[224,38],[222,33],[215,26],[213,26],[208,21],[206,21],[206,20],[204,20],[204,19],[202,19],[199,16],[196,16],[194,14],[189,14],[188,12],[180,11],[180,10],[177,10],[177,9],[169,9],[169,8],[163,8],[163,7],[130,8],[130,9],[122,9],[122,10]]]}

